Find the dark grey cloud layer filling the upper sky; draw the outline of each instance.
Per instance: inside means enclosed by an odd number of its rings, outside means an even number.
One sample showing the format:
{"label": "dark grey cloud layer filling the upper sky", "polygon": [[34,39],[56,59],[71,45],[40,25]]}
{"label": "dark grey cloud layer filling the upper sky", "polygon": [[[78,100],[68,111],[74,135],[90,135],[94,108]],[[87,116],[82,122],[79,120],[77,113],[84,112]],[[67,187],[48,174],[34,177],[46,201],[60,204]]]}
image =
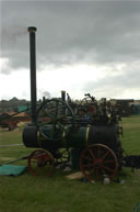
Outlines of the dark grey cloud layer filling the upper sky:
{"label": "dark grey cloud layer filling the upper sky", "polygon": [[37,26],[37,63],[105,64],[140,57],[140,2],[3,1],[2,56],[28,67],[28,25]]}

